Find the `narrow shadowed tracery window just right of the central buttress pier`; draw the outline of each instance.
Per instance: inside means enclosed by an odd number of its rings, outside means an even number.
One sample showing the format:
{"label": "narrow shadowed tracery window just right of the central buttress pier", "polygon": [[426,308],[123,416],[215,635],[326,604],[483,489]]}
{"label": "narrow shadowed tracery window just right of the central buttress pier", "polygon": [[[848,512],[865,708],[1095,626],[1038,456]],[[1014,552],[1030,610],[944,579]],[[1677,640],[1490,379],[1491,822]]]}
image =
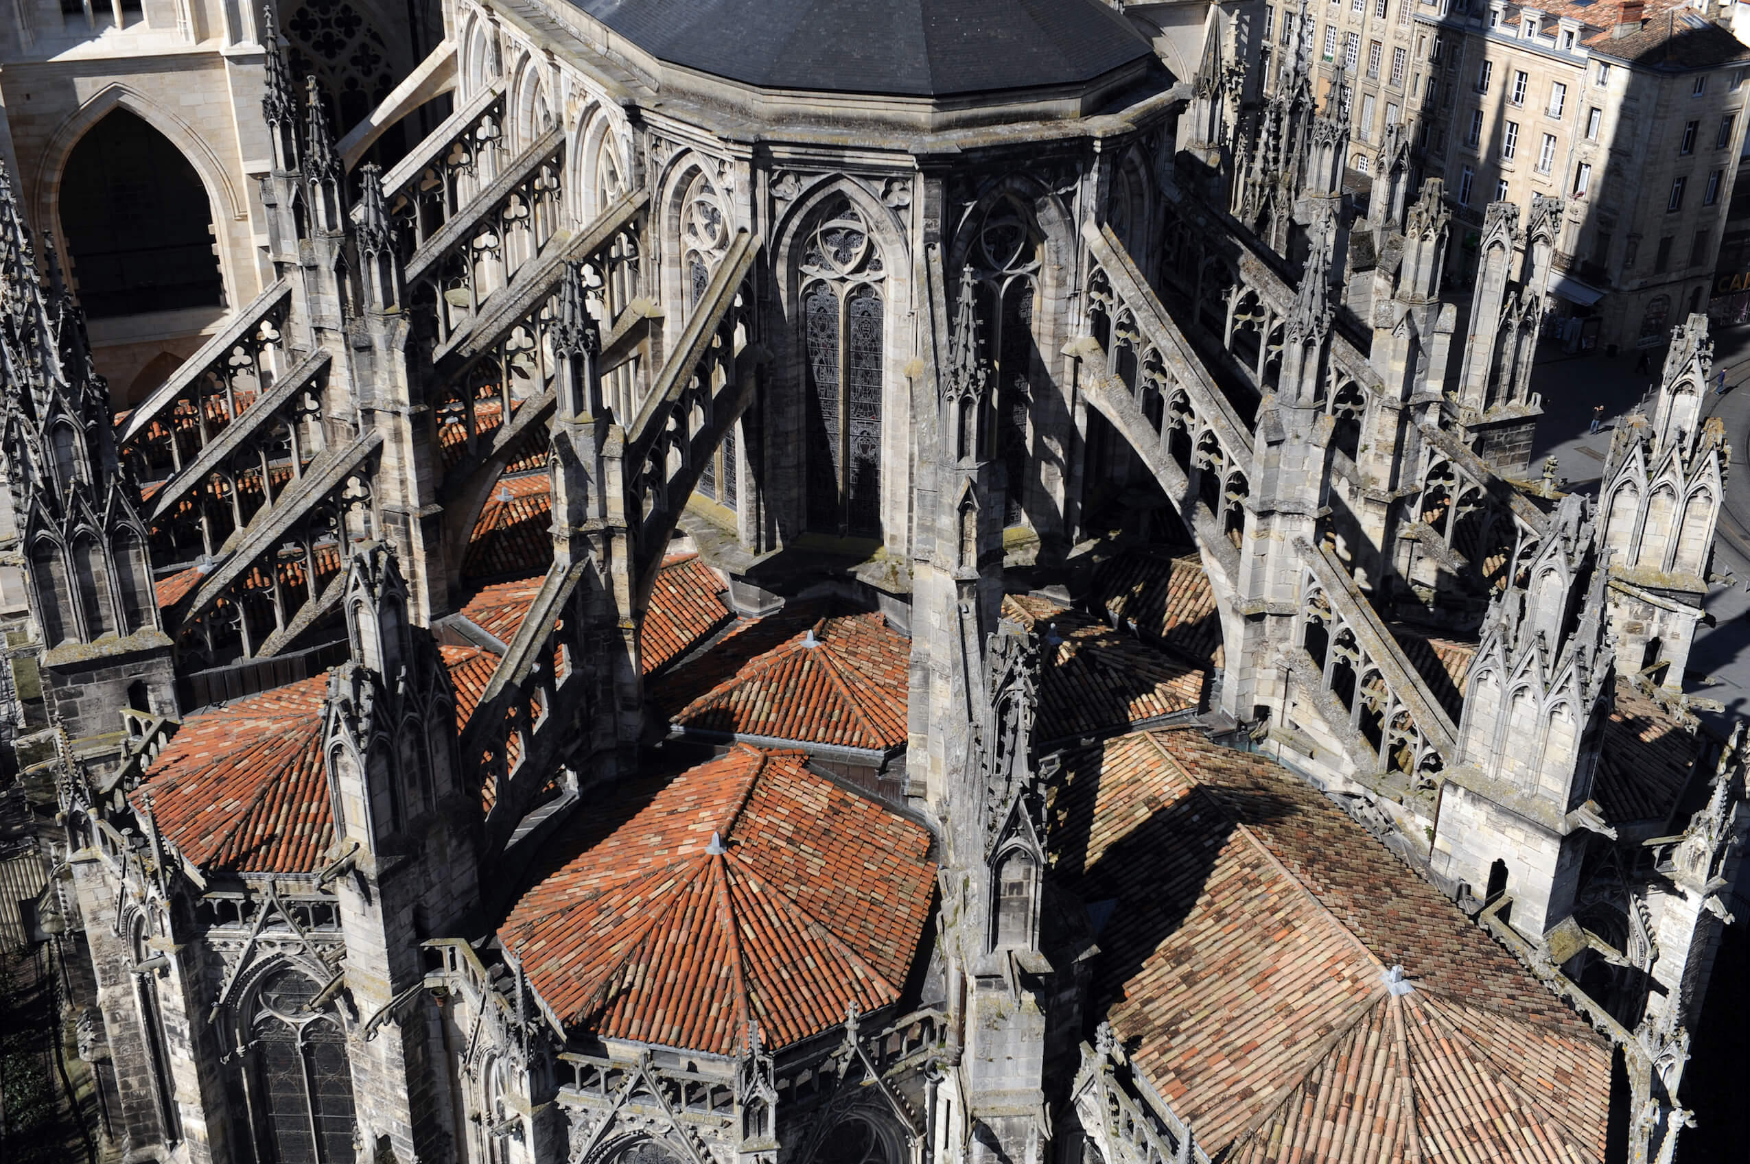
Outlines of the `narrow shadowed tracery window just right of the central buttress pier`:
{"label": "narrow shadowed tracery window just right of the central buttress pier", "polygon": [[1045,238],[1032,214],[1013,198],[1001,198],[980,221],[968,259],[978,277],[978,317],[990,320],[985,350],[996,364],[996,453],[1008,476],[1003,525],[1026,520],[1029,418],[1038,366],[1032,306],[1043,252]]}

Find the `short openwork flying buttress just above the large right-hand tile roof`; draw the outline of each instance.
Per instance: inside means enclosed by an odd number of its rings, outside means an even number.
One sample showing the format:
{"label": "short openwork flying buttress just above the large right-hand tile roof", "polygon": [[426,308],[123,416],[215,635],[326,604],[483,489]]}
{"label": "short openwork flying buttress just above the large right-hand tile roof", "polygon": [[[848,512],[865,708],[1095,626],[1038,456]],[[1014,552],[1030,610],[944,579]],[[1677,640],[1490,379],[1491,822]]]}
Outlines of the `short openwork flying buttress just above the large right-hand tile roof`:
{"label": "short openwork flying buttress just above the large right-hand tile roof", "polygon": [[1377,758],[1374,774],[1435,779],[1458,754],[1451,716],[1332,550],[1304,539],[1295,548],[1306,565],[1295,646],[1311,660],[1316,677],[1307,679],[1318,693],[1340,705],[1346,721],[1330,726],[1365,739]]}

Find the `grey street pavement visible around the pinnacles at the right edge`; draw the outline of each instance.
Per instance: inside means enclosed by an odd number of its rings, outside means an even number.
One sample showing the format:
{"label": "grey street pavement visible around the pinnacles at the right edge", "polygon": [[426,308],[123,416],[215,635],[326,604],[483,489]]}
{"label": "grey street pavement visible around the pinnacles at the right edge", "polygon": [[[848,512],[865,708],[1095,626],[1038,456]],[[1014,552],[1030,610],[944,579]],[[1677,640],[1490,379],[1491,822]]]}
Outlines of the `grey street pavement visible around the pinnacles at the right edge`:
{"label": "grey street pavement visible around the pinnacles at the right edge", "polygon": [[[1533,390],[1544,396],[1544,417],[1531,452],[1533,474],[1554,455],[1558,476],[1566,480],[1568,488],[1596,497],[1612,429],[1657,389],[1662,366],[1662,350],[1648,361],[1647,371],[1638,373],[1633,352],[1615,359],[1568,359],[1554,345],[1545,345],[1545,359],[1531,373]],[[1703,415],[1726,422],[1732,446],[1726,504],[1713,543],[1713,574],[1734,581],[1708,590],[1706,611],[1713,627],[1696,632],[1684,690],[1724,704],[1724,712],[1701,716],[1729,730],[1736,716],[1750,714],[1750,326],[1713,336],[1713,368],[1726,369],[1727,392],[1710,392]],[[1594,434],[1591,420],[1598,404],[1605,406],[1605,422]]]}

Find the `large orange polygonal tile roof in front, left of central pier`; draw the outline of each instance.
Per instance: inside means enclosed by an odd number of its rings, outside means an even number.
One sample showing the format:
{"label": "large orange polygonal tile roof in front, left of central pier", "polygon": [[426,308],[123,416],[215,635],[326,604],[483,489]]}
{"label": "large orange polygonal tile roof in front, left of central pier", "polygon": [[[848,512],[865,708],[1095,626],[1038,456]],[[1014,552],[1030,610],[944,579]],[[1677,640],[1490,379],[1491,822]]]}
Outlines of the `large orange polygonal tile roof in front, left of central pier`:
{"label": "large orange polygonal tile roof in front, left of central pier", "polygon": [[749,1019],[775,1048],[898,1001],[931,837],[803,761],[737,744],[555,840],[499,936],[567,1027],[732,1054]]}

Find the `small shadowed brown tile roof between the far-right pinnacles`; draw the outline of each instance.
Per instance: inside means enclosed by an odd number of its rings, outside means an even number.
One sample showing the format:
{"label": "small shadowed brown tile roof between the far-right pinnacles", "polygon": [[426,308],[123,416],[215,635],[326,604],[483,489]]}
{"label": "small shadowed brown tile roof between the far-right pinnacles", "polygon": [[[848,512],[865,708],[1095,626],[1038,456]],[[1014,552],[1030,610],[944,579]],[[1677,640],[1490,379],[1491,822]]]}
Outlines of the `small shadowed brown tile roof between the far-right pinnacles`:
{"label": "small shadowed brown tile roof between the far-right pinnacles", "polygon": [[1699,751],[1694,721],[1666,711],[1628,679],[1619,679],[1592,800],[1612,824],[1664,821],[1684,795]]}

